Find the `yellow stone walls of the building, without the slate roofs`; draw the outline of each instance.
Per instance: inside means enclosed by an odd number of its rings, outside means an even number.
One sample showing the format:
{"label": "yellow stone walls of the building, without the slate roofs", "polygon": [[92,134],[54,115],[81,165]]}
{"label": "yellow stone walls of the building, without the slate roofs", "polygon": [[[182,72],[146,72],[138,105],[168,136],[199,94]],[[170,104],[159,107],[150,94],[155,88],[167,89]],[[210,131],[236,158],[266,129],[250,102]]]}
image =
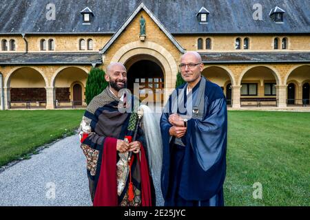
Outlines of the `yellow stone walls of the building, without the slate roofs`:
{"label": "yellow stone walls of the building, without the slate roofs", "polygon": [[[141,41],[139,37],[140,25],[139,19],[143,16],[146,23],[146,37]],[[236,38],[240,37],[244,42],[245,37],[249,39],[249,49],[235,50]],[[285,37],[288,40],[287,49],[274,50],[273,40],[278,37],[280,42]],[[309,52],[310,36],[306,35],[197,35],[197,34],[175,34],[174,40],[187,51],[197,52]],[[203,49],[198,50],[198,39],[203,39]],[[211,39],[211,50],[205,49],[205,40]],[[25,41],[22,36],[0,35],[2,39],[14,39],[16,42],[15,51],[1,51],[0,53],[21,53],[25,52]],[[28,41],[28,53],[53,53],[53,52],[89,52],[79,50],[80,39],[92,39],[92,52],[100,52],[101,49],[112,39],[112,34],[58,34],[58,35],[31,35],[26,34]],[[41,51],[40,41],[45,39],[54,40],[54,51]],[[117,39],[102,54],[103,63],[99,67],[105,69],[110,62],[121,62],[130,69],[130,67],[143,60],[153,61],[163,70],[165,89],[174,89],[178,65],[182,52],[178,50],[172,39],[158,27],[151,15],[145,10],[141,10],[128,23],[124,30],[117,36]],[[46,103],[41,107],[54,109],[56,106],[67,106],[61,102],[70,102],[73,100],[73,87],[76,84],[82,87],[82,99],[85,106],[85,83],[87,74],[91,65],[1,65],[0,74],[2,76],[1,89],[1,107],[9,109],[12,107],[10,102],[17,100],[19,93],[30,91],[31,88],[37,88],[36,91],[45,89]],[[203,75],[214,83],[223,87],[225,95],[230,96],[232,108],[241,107],[241,98],[274,98],[276,106],[287,107],[288,85],[295,85],[295,99],[302,100],[304,90],[302,87],[310,83],[310,62],[304,63],[205,63]],[[1,78],[0,78],[1,79]],[[0,82],[1,83],[1,82]],[[245,83],[256,84],[257,94],[255,96],[242,96],[241,88]],[[271,96],[265,94],[265,83],[276,84],[276,94]],[[35,90],[35,89],[32,89]],[[164,94],[164,100],[167,100],[169,93]],[[23,99],[24,100],[24,99]],[[32,101],[32,98],[29,98]],[[34,100],[35,101],[35,100]],[[251,101],[249,101],[251,102]],[[268,104],[268,102],[266,101]],[[297,102],[296,102],[297,103]]]}

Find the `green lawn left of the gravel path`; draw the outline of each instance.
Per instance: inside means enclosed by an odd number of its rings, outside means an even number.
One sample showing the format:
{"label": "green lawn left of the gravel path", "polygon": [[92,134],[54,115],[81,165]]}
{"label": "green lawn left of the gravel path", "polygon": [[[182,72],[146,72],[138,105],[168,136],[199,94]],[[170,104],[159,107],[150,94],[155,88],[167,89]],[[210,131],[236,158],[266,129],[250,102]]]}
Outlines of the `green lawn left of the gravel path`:
{"label": "green lawn left of the gravel path", "polygon": [[0,111],[0,166],[70,135],[84,110]]}

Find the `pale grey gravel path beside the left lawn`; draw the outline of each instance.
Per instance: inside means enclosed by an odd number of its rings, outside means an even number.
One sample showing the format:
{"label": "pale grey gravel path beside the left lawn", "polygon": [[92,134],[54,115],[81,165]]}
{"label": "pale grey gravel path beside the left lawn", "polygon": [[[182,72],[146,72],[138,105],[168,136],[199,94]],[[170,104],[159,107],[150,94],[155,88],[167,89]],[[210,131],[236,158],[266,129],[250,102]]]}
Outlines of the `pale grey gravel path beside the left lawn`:
{"label": "pale grey gravel path beside the left lawn", "polygon": [[0,206],[92,206],[85,166],[78,136],[65,137],[0,173]]}

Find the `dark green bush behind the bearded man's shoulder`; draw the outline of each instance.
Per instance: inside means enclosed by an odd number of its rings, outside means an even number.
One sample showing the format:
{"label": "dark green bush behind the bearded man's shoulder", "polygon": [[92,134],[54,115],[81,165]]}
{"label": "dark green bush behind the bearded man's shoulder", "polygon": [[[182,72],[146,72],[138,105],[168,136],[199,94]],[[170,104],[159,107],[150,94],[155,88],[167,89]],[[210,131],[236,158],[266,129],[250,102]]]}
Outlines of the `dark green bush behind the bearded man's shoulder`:
{"label": "dark green bush behind the bearded man's shoulder", "polygon": [[101,94],[103,89],[109,85],[105,80],[105,72],[99,68],[90,69],[90,74],[88,74],[86,87],[85,87],[85,101],[90,104],[90,101],[94,96]]}

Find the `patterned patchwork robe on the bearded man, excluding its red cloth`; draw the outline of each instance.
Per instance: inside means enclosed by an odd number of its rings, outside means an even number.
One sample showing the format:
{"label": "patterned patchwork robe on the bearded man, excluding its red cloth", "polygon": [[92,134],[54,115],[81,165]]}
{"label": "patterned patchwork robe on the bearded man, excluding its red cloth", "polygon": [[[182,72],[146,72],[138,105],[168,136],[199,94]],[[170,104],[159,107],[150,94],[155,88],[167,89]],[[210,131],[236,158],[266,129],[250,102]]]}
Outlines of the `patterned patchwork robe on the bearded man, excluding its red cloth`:
{"label": "patterned patchwork robe on the bearded man, excluding its red cloth", "polygon": [[[112,94],[110,88],[107,87],[101,94],[92,99],[83,115],[79,128],[79,135],[81,148],[87,158],[87,177],[93,202],[99,176],[101,175],[101,162],[103,159],[103,147],[105,146],[106,137],[124,140],[125,136],[132,136],[134,133],[137,120],[137,115],[134,112],[136,111],[133,111],[133,113],[120,112],[118,107],[125,107],[125,104],[127,104],[127,107],[128,104],[131,106],[130,110],[136,110],[134,107],[137,107],[138,100],[131,98],[129,102],[124,102]],[[141,128],[138,129],[137,140],[141,142],[143,146],[146,146]],[[147,152],[145,152],[145,154],[147,154]],[[118,206],[141,206],[141,162],[139,160],[141,155],[138,155],[138,157],[134,159],[131,166],[131,180],[134,189],[134,199],[132,201],[128,200],[130,168],[127,163],[127,158],[128,152],[116,153]],[[150,177],[148,170],[147,172],[147,176],[152,185],[152,177]],[[113,188],[114,186],[111,187]],[[154,186],[151,187],[154,189]]]}

